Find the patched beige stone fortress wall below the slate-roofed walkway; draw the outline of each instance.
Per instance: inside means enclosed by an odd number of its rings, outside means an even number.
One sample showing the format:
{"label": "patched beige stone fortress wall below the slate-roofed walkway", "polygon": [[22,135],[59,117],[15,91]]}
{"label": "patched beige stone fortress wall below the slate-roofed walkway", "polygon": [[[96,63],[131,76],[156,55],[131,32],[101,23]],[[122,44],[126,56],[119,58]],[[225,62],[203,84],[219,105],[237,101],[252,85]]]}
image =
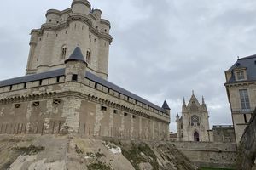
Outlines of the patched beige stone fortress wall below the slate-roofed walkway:
{"label": "patched beige stone fortress wall below the slate-roofed walkway", "polygon": [[[39,82],[39,81],[38,81]],[[87,79],[48,85],[28,82],[30,88],[0,93],[0,133],[63,133],[123,139],[167,139],[169,116]],[[34,84],[34,85],[33,85]],[[97,89],[96,89],[97,88]],[[67,133],[67,132],[66,132]]]}

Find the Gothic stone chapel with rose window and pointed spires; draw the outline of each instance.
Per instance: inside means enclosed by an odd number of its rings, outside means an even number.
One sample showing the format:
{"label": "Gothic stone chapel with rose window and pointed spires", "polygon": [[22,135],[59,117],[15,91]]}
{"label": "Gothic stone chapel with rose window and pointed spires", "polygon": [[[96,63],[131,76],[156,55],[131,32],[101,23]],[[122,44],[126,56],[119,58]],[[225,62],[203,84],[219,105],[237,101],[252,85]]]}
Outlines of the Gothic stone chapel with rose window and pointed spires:
{"label": "Gothic stone chapel with rose window and pointed spires", "polygon": [[209,115],[204,98],[200,104],[193,92],[189,104],[183,99],[182,116],[176,116],[178,141],[209,141]]}

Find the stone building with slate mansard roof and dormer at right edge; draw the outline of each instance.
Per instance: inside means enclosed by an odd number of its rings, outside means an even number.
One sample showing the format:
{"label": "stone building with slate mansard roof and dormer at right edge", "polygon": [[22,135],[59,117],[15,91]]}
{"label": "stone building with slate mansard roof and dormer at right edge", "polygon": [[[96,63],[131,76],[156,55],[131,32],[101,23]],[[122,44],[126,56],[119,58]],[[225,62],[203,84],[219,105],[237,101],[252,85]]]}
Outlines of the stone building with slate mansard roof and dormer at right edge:
{"label": "stone building with slate mansard roof and dormer at right edge", "polygon": [[236,144],[239,145],[256,107],[256,55],[237,59],[236,63],[225,71],[225,77]]}

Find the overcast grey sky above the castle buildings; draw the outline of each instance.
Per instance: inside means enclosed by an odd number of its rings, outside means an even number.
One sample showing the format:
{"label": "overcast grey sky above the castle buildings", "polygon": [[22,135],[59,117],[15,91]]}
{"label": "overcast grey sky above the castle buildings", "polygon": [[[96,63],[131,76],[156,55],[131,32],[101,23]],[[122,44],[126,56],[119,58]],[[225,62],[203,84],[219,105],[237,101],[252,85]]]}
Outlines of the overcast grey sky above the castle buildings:
{"label": "overcast grey sky above the castle buildings", "polygon": [[[29,33],[49,8],[72,0],[1,3],[0,80],[25,74]],[[255,0],[90,1],[112,24],[109,77],[145,99],[172,108],[171,130],[183,96],[204,95],[210,124],[231,124],[224,71],[237,56],[256,54]]]}

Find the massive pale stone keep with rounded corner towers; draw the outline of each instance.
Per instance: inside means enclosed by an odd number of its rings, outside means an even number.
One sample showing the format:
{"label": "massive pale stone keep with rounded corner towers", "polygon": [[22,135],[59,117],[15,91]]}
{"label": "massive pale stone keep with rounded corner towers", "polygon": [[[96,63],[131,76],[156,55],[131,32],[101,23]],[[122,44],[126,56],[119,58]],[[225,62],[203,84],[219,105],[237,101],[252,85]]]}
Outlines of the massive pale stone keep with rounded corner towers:
{"label": "massive pale stone keep with rounded corner towers", "polygon": [[91,9],[87,0],[73,0],[63,11],[49,9],[46,23],[32,30],[26,74],[64,68],[64,61],[78,47],[88,64],[88,71],[108,78],[108,51],[112,42],[110,22],[102,11]]}

